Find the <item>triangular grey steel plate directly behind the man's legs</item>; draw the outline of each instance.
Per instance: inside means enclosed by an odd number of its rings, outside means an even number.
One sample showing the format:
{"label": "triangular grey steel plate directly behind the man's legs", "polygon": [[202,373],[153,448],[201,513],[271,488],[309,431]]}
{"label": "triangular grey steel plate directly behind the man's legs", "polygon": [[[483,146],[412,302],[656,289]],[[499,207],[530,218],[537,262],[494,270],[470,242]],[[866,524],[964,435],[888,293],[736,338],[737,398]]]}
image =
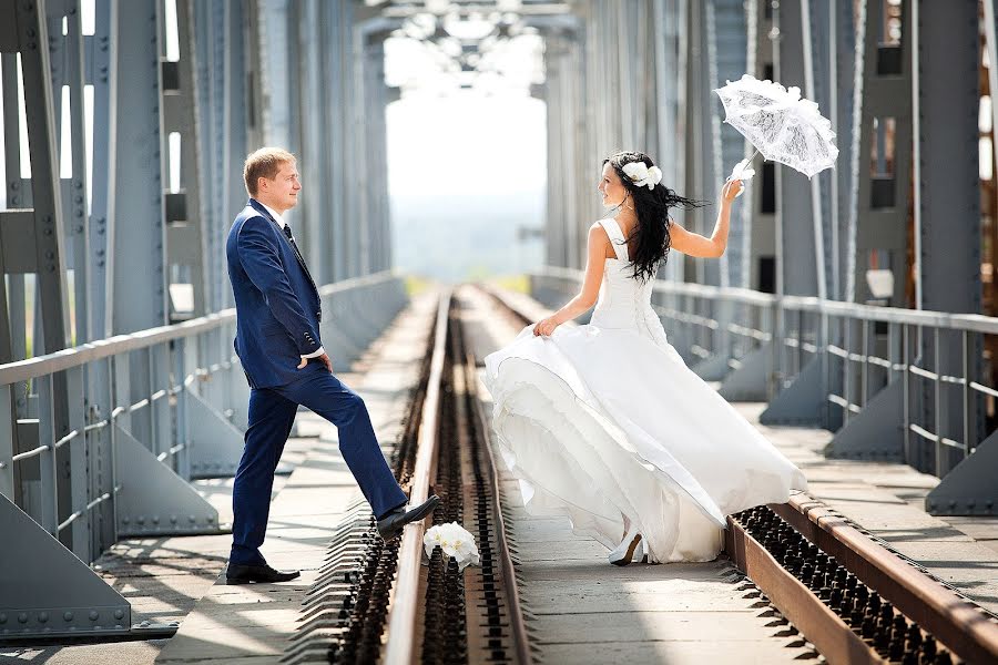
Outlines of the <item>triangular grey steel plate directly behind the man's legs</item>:
{"label": "triangular grey steel plate directly behind the man's legs", "polygon": [[187,390],[191,478],[231,478],[243,457],[243,432],[201,396]]}

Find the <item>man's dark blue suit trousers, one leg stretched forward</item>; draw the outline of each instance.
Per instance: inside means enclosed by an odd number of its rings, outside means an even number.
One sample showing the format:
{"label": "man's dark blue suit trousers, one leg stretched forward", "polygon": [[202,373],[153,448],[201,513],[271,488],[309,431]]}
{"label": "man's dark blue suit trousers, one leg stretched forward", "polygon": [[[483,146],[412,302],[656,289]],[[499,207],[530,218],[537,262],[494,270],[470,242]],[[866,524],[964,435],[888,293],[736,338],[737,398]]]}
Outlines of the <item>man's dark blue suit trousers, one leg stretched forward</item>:
{"label": "man's dark blue suit trousers, one leg stretched forward", "polygon": [[339,430],[339,451],[375,515],[407,501],[381,454],[360,396],[319,362],[309,362],[301,371],[302,378],[292,383],[249,392],[249,428],[232,492],[231,563],[266,563],[259,546],[267,530],[274,471],[298,405]]}

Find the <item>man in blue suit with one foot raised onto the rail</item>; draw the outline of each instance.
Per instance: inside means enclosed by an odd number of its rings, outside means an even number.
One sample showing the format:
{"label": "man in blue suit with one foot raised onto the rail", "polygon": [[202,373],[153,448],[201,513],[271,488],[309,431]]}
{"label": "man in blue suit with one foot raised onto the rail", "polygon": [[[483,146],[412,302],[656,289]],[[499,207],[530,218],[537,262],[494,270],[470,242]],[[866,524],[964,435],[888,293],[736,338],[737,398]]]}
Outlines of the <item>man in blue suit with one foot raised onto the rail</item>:
{"label": "man in blue suit with one foot raised onto the rail", "polygon": [[232,225],[225,255],[236,304],[235,350],[251,387],[249,427],[232,493],[228,584],[298,576],[298,571],[272,569],[259,552],[274,470],[298,405],[339,430],[339,450],[378,518],[381,538],[398,535],[440,501],[430,497],[406,510],[406,495],[385,462],[364,400],[333,376],[319,339],[318,289],[282,217],[302,191],[295,156],[262,147],[246,158],[243,177],[249,203]]}

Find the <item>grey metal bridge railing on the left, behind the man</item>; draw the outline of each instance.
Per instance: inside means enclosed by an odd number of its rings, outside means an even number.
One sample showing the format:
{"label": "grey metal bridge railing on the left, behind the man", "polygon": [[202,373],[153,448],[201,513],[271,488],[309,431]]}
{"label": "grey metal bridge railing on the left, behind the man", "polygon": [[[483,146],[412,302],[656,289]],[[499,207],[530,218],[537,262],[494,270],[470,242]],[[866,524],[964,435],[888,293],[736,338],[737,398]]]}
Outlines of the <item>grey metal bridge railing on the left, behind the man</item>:
{"label": "grey metal bridge railing on the left, behind the man", "polygon": [[[320,296],[339,367],[406,301],[388,273]],[[182,484],[238,463],[248,386],[235,320],[226,309],[0,366],[0,494],[84,562],[122,535],[217,531],[217,513]]]}

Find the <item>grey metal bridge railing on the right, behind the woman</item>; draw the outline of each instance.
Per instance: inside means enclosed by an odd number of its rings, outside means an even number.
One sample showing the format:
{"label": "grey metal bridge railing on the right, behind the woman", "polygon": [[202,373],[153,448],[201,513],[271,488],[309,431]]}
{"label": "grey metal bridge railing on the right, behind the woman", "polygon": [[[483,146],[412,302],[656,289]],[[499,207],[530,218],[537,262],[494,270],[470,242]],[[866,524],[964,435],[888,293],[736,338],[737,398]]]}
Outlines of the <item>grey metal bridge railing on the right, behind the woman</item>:
{"label": "grey metal bridge railing on the right, behind the woman", "polygon": [[[558,306],[582,273],[530,277],[536,297]],[[833,456],[904,461],[944,478],[989,443],[998,390],[985,378],[982,345],[998,335],[998,318],[664,280],[652,304],[694,371],[729,399],[770,402],[763,422],[836,431]],[[998,480],[965,475],[977,499],[960,508],[959,498],[944,505],[930,495],[928,508],[990,513]]]}

